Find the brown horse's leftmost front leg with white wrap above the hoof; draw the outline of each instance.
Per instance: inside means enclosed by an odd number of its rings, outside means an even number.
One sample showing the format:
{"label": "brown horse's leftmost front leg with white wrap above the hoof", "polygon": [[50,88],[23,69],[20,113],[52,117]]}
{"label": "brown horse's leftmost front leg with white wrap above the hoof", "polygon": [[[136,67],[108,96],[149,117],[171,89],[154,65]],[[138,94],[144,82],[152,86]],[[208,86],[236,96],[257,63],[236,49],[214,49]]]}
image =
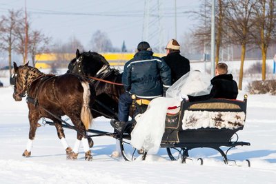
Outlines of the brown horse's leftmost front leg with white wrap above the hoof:
{"label": "brown horse's leftmost front leg with white wrap above the hoof", "polygon": [[23,152],[22,156],[30,157],[32,152],[32,142],[34,140],[35,132],[37,131],[37,122],[39,121],[39,113],[29,110],[29,140],[26,146],[26,150]]}

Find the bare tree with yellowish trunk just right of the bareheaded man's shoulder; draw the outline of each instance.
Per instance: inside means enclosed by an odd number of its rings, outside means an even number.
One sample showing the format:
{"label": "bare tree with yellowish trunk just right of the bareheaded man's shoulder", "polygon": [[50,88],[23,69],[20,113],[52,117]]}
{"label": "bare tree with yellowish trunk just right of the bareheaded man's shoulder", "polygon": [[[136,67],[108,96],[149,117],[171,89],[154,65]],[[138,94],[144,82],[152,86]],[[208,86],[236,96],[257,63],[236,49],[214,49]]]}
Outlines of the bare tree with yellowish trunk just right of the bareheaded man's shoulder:
{"label": "bare tree with yellowish trunk just right of the bareheaded man's shoulder", "polygon": [[253,7],[256,3],[257,0],[228,0],[229,7],[226,9],[226,21],[228,23],[228,30],[230,30],[228,36],[233,43],[242,45],[239,90],[242,90],[246,45],[252,41],[250,30],[255,23],[253,21]]}

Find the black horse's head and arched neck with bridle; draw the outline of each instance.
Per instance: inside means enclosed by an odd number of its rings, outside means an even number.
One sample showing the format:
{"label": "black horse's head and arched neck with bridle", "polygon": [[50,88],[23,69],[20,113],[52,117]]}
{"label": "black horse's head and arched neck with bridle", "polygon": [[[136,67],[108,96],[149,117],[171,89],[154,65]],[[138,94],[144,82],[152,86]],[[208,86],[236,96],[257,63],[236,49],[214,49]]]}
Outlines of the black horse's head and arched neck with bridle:
{"label": "black horse's head and arched neck with bridle", "polygon": [[108,67],[108,61],[101,54],[90,51],[79,53],[78,49],[75,59],[72,59],[68,66],[72,73],[86,76],[96,76],[101,70]]}

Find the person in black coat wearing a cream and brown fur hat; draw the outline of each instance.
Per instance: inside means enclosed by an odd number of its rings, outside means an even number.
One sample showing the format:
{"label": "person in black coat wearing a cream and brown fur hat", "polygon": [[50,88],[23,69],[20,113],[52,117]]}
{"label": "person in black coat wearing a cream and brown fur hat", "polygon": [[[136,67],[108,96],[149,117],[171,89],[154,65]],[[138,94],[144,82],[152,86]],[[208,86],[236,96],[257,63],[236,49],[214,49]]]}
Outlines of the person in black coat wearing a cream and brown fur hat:
{"label": "person in black coat wearing a cream and brown fur hat", "polygon": [[172,73],[172,84],[181,76],[190,71],[190,61],[180,55],[180,45],[175,39],[171,39],[166,46],[167,56],[164,61],[170,67]]}

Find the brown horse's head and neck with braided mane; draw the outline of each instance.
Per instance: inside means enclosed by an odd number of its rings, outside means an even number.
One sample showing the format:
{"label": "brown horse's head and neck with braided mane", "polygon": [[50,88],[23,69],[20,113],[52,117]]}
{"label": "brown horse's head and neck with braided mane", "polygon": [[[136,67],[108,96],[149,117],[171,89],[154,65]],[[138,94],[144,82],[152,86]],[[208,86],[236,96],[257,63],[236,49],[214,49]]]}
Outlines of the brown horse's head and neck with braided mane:
{"label": "brown horse's head and neck with braided mane", "polygon": [[21,101],[22,97],[26,96],[26,91],[32,81],[37,79],[42,74],[37,68],[28,66],[28,64],[29,62],[18,67],[17,63],[13,63],[14,75],[12,81],[14,85],[14,92],[12,97],[15,101]]}

